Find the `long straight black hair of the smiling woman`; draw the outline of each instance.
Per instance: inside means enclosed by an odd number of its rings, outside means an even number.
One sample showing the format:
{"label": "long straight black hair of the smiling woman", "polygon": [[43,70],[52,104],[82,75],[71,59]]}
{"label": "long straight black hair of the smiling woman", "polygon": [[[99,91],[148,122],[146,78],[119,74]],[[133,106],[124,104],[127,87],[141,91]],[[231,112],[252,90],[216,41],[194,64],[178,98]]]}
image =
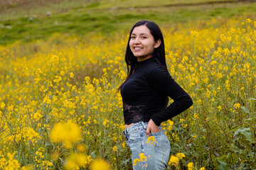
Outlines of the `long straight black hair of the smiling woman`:
{"label": "long straight black hair of the smiling woman", "polygon": [[[166,58],[165,58],[165,50],[164,50],[164,37],[163,34],[161,33],[161,30],[159,26],[156,25],[153,21],[139,21],[135,23],[135,25],[132,27],[130,33],[129,33],[129,40],[127,43],[127,49],[125,52],[125,62],[127,64],[127,78],[125,81],[119,86],[117,91],[119,91],[122,88],[122,85],[129,79],[129,77],[132,75],[134,70],[136,69],[137,66],[137,57],[134,57],[132,50],[129,47],[129,41],[131,40],[131,34],[132,31],[134,30],[135,27],[137,26],[146,26],[146,28],[149,28],[151,35],[154,37],[154,41],[156,42],[157,40],[161,40],[161,44],[159,47],[154,49],[153,52],[153,58],[156,60],[156,62],[159,62],[164,69],[167,70],[166,66]],[[168,97],[164,96],[164,103],[163,106],[166,107],[168,103]],[[167,98],[167,99],[166,99]]]}

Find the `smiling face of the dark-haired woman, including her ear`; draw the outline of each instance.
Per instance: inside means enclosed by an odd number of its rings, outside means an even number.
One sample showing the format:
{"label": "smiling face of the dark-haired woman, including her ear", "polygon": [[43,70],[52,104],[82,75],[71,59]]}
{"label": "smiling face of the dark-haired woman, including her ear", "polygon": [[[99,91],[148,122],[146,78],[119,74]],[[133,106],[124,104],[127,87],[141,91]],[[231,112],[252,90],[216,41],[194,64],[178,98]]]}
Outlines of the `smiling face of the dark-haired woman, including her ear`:
{"label": "smiling face of the dark-haired woman, including her ear", "polygon": [[154,49],[159,47],[161,40],[154,40],[149,28],[146,26],[137,26],[131,34],[129,47],[139,62],[153,56]]}

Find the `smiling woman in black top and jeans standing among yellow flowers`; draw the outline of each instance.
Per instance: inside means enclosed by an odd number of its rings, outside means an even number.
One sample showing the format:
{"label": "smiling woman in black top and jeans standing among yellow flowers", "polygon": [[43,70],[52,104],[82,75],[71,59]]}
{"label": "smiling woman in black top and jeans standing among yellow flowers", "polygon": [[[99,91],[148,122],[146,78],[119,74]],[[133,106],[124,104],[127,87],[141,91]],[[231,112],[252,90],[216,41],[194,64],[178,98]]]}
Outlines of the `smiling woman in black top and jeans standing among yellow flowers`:
{"label": "smiling woman in black top and jeans standing among yellow flowers", "polygon": [[[132,27],[125,62],[127,79],[119,89],[133,169],[165,169],[171,147],[161,123],[185,111],[193,101],[167,71],[164,38],[156,23],[139,21]],[[174,102],[166,108],[168,97]],[[148,137],[156,142],[147,142]]]}

